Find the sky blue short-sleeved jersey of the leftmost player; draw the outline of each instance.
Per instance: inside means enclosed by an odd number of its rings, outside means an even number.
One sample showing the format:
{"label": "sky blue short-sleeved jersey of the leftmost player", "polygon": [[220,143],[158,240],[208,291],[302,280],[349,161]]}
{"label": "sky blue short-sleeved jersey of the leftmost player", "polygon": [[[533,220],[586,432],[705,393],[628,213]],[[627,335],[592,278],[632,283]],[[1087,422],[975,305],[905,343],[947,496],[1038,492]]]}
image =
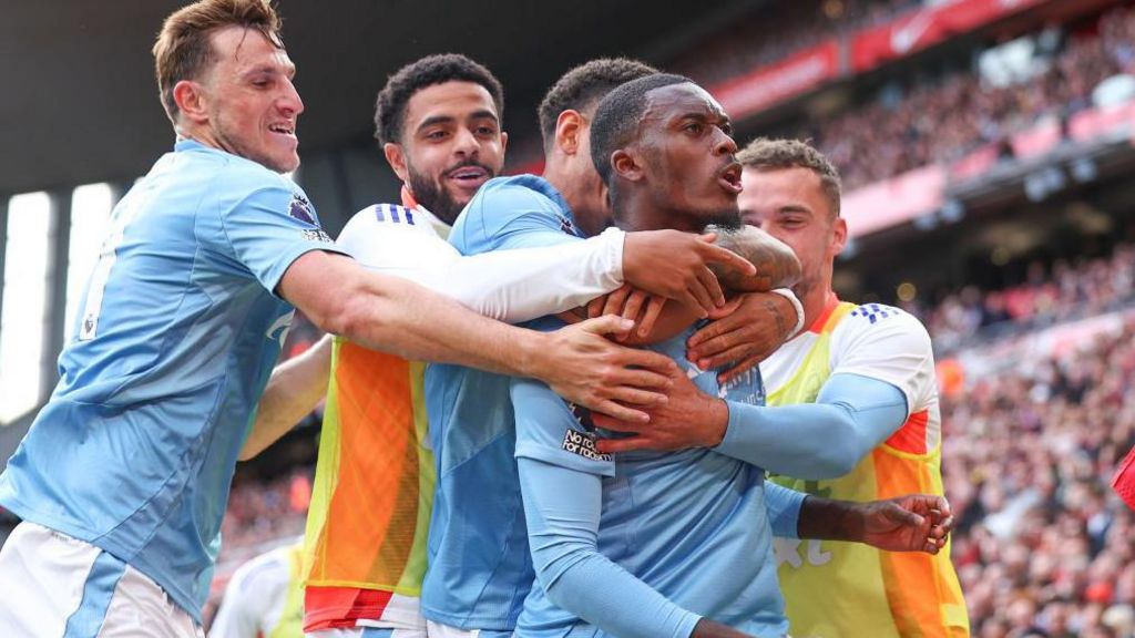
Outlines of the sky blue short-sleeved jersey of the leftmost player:
{"label": "sky blue short-sleeved jersey of the leftmost player", "polygon": [[312,250],[337,249],[291,179],[179,141],[112,212],[0,504],[129,563],[200,622],[237,453],[294,314],[274,291]]}

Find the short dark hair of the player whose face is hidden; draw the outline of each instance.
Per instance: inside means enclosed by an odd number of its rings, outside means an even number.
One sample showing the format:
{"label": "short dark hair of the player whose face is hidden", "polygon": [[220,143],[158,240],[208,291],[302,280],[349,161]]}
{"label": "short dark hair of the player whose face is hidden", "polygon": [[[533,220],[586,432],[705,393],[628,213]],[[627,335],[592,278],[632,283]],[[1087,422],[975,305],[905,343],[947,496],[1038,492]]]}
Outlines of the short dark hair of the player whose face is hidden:
{"label": "short dark hair of the player whose face is hidden", "polygon": [[552,146],[556,136],[560,114],[568,109],[586,111],[598,104],[614,87],[656,73],[658,69],[629,58],[599,58],[565,73],[548,89],[537,111],[544,150]]}

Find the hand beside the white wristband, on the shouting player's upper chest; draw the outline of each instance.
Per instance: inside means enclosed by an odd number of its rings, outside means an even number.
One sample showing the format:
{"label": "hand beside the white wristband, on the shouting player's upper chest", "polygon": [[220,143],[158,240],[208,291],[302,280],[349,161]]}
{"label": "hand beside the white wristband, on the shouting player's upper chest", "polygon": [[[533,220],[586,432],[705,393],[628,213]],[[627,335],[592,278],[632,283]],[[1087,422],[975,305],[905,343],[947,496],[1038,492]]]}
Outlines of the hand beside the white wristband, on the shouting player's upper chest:
{"label": "hand beside the white wristband, on the shouting player's upper chest", "polygon": [[739,295],[712,313],[713,321],[687,342],[686,358],[709,370],[732,364],[717,375],[725,384],[753,369],[776,351],[796,326],[796,308],[775,293]]}

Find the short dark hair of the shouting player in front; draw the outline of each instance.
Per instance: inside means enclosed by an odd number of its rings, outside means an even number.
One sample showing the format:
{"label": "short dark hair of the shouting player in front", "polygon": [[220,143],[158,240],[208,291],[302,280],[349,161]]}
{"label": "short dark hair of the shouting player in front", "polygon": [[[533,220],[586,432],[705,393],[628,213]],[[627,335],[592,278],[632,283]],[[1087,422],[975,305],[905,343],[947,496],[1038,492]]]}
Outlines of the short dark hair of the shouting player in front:
{"label": "short dark hair of the shouting player in front", "polygon": [[628,82],[599,102],[591,121],[591,161],[608,187],[612,186],[611,154],[630,144],[638,134],[639,120],[646,112],[646,94],[663,86],[692,82],[681,75],[658,73]]}

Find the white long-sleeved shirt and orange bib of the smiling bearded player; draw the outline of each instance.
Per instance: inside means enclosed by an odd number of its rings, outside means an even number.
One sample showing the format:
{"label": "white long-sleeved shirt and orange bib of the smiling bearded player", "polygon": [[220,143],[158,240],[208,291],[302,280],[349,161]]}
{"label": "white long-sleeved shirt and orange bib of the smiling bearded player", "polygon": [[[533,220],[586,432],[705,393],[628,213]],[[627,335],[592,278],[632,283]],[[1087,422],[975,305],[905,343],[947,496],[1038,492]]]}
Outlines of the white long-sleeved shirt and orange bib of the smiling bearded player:
{"label": "white long-sleeved shirt and orange bib of the smiling bearded player", "polygon": [[[376,272],[411,279],[470,309],[522,321],[574,308],[621,284],[622,236],[462,257],[449,227],[403,190],[338,244]],[[427,437],[426,364],[336,337],[308,514],[305,630],[415,629],[426,571],[435,465]]]}

